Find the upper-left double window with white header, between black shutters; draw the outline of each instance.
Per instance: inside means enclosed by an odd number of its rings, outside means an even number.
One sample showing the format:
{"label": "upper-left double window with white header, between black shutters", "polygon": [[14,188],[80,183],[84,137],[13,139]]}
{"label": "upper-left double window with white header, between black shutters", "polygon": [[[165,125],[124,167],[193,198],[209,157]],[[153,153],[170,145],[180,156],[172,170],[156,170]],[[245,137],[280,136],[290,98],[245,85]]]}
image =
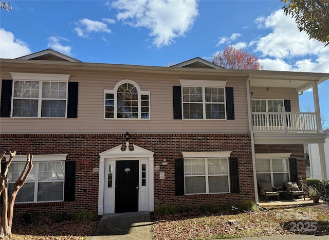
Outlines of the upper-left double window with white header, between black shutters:
{"label": "upper-left double window with white header, between black shutters", "polygon": [[65,118],[69,75],[11,73],[12,117]]}

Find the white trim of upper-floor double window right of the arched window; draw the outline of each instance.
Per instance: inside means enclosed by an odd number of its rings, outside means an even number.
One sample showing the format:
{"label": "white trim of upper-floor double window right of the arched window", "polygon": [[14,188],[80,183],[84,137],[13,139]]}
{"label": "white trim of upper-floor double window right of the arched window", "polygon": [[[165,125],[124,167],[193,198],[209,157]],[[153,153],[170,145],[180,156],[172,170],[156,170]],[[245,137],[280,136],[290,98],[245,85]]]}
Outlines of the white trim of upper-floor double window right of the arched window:
{"label": "white trim of upper-floor double window right of the arched window", "polygon": [[[225,87],[227,81],[211,81],[211,80],[187,80],[187,79],[179,79],[181,87],[202,87],[202,104],[203,107],[203,118],[202,119],[195,119],[195,118],[184,118],[184,102],[183,101],[183,94],[181,94],[181,109],[182,109],[182,119],[185,120],[226,120],[227,118],[227,110],[226,110],[226,93]],[[223,103],[216,103],[216,104],[224,104],[225,110],[225,117],[223,119],[207,119],[206,118],[206,94],[205,94],[205,87],[217,87],[217,88],[224,88],[224,102]]]}

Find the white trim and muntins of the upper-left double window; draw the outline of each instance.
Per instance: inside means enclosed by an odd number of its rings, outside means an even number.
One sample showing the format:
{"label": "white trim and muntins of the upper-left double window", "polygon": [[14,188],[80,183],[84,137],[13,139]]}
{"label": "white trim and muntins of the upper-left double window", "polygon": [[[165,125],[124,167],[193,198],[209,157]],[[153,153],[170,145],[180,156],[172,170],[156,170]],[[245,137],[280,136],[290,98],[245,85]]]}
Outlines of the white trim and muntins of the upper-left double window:
{"label": "white trim and muntins of the upper-left double window", "polygon": [[[68,81],[70,75],[68,74],[48,74],[48,73],[24,73],[24,72],[10,72],[13,80],[12,93],[11,93],[11,118],[66,118],[67,117],[67,101],[68,101]],[[39,97],[38,98],[14,98],[14,82],[15,81],[35,81],[40,82]],[[42,108],[42,85],[43,82],[66,82],[66,97],[65,99],[51,99],[51,100],[65,100],[65,116],[64,117],[41,117]],[[38,100],[38,116],[37,117],[15,117],[13,116],[14,99],[33,99]]]}

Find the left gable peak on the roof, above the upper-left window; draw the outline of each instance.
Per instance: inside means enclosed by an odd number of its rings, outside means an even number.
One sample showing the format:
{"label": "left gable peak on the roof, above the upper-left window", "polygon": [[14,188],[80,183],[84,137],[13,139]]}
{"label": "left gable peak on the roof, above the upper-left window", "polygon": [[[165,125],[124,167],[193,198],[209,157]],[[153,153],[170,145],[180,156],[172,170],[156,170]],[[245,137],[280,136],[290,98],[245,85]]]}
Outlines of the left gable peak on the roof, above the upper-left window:
{"label": "left gable peak on the roof, above the upper-left window", "polygon": [[16,58],[20,60],[50,60],[50,61],[66,61],[66,62],[81,62],[77,59],[71,58],[63,53],[52,50],[50,48],[39,52],[34,52],[26,56]]}

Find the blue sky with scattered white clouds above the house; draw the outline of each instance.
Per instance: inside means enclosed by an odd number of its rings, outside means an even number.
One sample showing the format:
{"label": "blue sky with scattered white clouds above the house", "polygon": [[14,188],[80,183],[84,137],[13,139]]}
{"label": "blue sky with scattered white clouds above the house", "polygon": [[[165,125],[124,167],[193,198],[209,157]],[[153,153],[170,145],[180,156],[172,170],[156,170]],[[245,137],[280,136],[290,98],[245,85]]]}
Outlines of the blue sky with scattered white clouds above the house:
{"label": "blue sky with scattered white clouds above the house", "polygon": [[[10,1],[1,11],[0,57],[47,48],[82,62],[166,66],[211,61],[226,45],[258,56],[265,70],[329,72],[329,47],[309,40],[280,0]],[[319,85],[329,117],[329,80]],[[313,105],[312,89],[300,96]]]}

